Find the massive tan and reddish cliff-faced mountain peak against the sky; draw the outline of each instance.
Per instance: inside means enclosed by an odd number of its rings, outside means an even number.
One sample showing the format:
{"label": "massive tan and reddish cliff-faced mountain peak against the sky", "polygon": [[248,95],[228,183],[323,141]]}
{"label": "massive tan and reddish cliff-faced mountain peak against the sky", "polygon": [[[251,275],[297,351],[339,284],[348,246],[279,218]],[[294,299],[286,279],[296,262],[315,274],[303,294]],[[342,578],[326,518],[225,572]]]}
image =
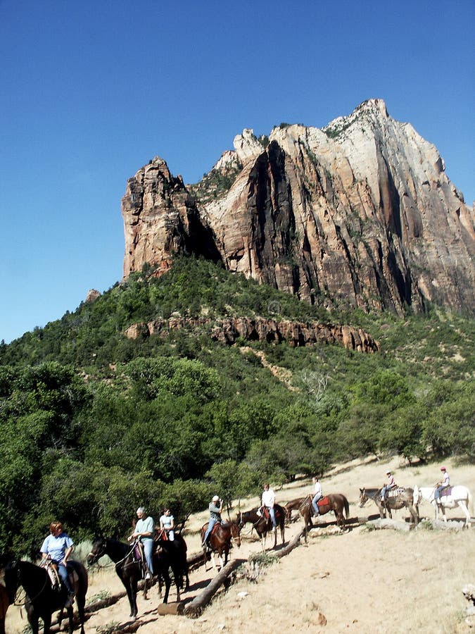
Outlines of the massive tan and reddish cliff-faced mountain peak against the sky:
{"label": "massive tan and reddish cliff-faced mountain peak against the sky", "polygon": [[244,130],[234,147],[188,189],[158,158],[129,180],[125,278],[195,253],[322,306],[473,311],[474,210],[383,101],[266,144]]}

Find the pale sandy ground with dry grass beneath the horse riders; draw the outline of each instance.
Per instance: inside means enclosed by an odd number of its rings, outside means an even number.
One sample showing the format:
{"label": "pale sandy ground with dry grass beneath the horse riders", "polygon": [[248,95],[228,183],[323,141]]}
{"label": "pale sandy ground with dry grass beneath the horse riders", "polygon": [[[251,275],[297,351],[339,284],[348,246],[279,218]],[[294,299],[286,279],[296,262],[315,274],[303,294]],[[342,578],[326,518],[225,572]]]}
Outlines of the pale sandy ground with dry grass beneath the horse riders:
{"label": "pale sandy ground with dry grass beneath the horse riders", "polygon": [[[467,485],[475,491],[475,467],[457,466],[448,461],[452,483]],[[350,502],[350,516],[376,513],[376,506],[357,506],[362,486],[384,483],[388,468],[395,472],[403,486],[431,485],[438,478],[437,466],[403,467],[397,459],[390,462],[357,462],[340,466],[322,479],[324,493],[343,492]],[[277,491],[277,501],[284,503],[310,490],[309,481],[293,483]],[[246,500],[243,509],[252,508],[257,499]],[[432,516],[433,510],[423,502],[421,516]],[[403,520],[405,510],[393,517]],[[192,518],[186,532],[189,553],[198,552],[197,531],[207,514]],[[330,518],[328,514],[324,519]],[[459,510],[448,511],[448,518],[462,518]],[[302,528],[300,521],[286,527],[286,542]],[[225,631],[247,634],[256,628],[278,628],[293,632],[355,633],[464,633],[467,602],[462,587],[475,583],[475,526],[457,533],[438,530],[417,530],[399,533],[393,530],[368,531],[353,528],[338,535],[324,535],[314,530],[308,545],[294,549],[287,557],[262,569],[255,583],[241,578],[226,592],[221,592],[196,620],[184,616],[158,616],[158,590],[152,588],[148,600],[138,597],[139,618],[129,621],[127,598],[101,609],[88,619],[89,633],[110,634],[113,631],[151,633],[211,633]],[[243,529],[240,549],[232,557],[247,559],[260,552],[260,543]],[[280,541],[280,540],[279,540]],[[267,542],[267,550],[272,551]],[[209,566],[210,564],[208,564]],[[201,566],[190,575],[191,589],[182,595],[193,599],[213,571]],[[103,592],[122,590],[112,569],[90,574],[89,600]],[[175,587],[169,602],[176,598]],[[326,624],[322,624],[322,616]],[[132,628],[130,627],[132,626]],[[7,615],[7,633],[18,634],[25,628],[18,609]],[[138,629],[137,629],[138,628]]]}

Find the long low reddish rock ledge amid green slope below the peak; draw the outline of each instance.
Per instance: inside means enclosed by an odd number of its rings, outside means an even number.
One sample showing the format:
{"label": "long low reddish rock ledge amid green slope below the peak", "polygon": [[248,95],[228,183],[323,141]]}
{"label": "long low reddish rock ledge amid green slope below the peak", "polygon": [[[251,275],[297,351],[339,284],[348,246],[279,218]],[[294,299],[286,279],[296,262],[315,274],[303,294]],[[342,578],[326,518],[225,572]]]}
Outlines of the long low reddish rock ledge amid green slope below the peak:
{"label": "long low reddish rock ledge amid green slope below the peak", "polygon": [[145,338],[150,335],[166,335],[170,330],[182,328],[207,332],[212,340],[229,345],[240,337],[248,341],[287,342],[291,347],[331,343],[360,352],[379,350],[378,342],[361,328],[315,322],[276,321],[260,317],[227,318],[220,321],[171,317],[148,323],[134,323],[125,330],[125,336],[129,339]]}

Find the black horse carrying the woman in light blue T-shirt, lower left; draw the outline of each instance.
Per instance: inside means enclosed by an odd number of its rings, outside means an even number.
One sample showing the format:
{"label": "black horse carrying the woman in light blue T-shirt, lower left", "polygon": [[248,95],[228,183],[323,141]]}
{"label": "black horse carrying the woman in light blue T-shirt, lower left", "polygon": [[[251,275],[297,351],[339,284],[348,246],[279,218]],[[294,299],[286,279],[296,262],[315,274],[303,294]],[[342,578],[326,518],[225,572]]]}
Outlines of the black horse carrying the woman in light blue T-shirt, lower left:
{"label": "black horse carrying the woman in light blue T-shirt, lower left", "polygon": [[[87,570],[80,561],[68,561],[68,572],[73,574],[72,587],[75,590],[77,611],[80,617],[81,634],[84,634],[84,604],[87,592]],[[43,621],[43,633],[51,631],[51,614],[64,608],[68,591],[61,585],[57,590],[51,587],[51,580],[45,568],[31,564],[30,561],[9,561],[4,568],[4,588],[8,602],[13,603],[18,587],[25,590],[25,608],[33,634],[38,634],[39,619]],[[72,605],[68,608],[69,634],[72,634]]]}

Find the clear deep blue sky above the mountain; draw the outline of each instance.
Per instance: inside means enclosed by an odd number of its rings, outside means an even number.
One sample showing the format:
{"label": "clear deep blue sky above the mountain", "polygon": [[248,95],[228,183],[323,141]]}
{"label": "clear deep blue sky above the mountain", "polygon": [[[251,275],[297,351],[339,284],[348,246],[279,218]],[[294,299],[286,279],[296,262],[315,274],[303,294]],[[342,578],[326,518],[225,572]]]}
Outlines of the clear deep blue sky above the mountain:
{"label": "clear deep blue sky above the mountain", "polygon": [[475,3],[0,0],[0,340],[122,276],[153,156],[196,182],[234,135],[379,97],[475,199]]}

